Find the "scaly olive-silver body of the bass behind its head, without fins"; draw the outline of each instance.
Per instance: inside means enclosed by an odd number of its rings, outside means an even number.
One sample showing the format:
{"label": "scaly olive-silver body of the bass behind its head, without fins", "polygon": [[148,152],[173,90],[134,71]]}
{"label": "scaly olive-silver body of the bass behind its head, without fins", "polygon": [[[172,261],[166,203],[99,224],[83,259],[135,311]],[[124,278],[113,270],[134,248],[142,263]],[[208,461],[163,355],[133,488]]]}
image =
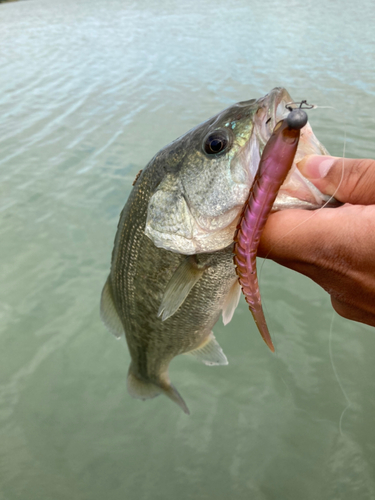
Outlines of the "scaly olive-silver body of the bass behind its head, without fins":
{"label": "scaly olive-silver body of the bass behind its head, without fins", "polygon": [[198,347],[218,320],[236,274],[232,247],[202,254],[210,262],[180,309],[166,321],[157,317],[167,284],[184,255],[155,247],[145,236],[148,200],[160,175],[163,157],[144,170],[121,214],[110,282],[137,374],[158,380],[178,354]]}

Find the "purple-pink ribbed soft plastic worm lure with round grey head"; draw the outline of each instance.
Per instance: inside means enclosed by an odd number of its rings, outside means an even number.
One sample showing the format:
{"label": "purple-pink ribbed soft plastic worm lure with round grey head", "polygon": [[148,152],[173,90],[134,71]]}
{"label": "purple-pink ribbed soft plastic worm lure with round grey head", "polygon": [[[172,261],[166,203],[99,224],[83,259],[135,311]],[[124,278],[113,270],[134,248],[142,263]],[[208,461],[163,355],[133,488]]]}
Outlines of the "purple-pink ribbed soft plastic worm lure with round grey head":
{"label": "purple-pink ribbed soft plastic worm lure with round grey head", "polygon": [[275,126],[263,150],[258,173],[234,237],[234,263],[238,279],[258,330],[272,352],[275,348],[268,331],[259,292],[257,249],[277,193],[293,165],[300,129],[306,123],[306,113],[296,109]]}

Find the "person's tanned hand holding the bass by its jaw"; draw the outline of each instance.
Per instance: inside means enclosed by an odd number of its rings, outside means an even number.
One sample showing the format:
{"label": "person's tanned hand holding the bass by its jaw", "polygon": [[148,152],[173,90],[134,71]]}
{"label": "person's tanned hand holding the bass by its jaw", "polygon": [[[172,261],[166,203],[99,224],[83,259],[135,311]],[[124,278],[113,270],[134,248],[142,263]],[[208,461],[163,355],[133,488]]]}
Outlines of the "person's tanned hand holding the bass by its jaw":
{"label": "person's tanned hand holding the bass by its jaw", "polygon": [[345,205],[272,214],[258,255],[314,280],[340,316],[375,326],[375,160],[312,155],[298,168]]}

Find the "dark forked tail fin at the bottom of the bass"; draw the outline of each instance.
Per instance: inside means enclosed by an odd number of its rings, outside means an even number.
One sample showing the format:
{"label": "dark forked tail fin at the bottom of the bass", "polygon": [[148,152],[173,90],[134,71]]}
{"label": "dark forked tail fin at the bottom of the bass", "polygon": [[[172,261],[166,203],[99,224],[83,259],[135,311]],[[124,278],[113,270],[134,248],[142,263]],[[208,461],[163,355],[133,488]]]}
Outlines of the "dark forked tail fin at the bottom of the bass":
{"label": "dark forked tail fin at the bottom of the bass", "polygon": [[167,380],[161,380],[160,385],[147,380],[141,380],[135,375],[132,365],[130,365],[127,386],[129,394],[136,399],[152,399],[159,396],[159,394],[165,394],[169,399],[178,404],[182,411],[190,415],[189,408],[186,406],[185,401],[182,399],[177,389]]}

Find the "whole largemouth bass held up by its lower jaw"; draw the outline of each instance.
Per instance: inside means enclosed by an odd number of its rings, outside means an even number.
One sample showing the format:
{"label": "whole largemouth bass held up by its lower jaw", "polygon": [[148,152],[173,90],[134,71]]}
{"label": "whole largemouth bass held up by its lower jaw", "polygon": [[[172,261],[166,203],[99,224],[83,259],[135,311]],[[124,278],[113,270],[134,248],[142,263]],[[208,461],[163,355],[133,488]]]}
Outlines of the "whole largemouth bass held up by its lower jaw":
{"label": "whole largemouth bass held up by its lower jaw", "polygon": [[[131,364],[127,386],[139,399],[165,394],[189,410],[171,384],[179,354],[225,365],[212,328],[232,319],[241,289],[233,237],[262,151],[292,101],[285,89],[240,102],[187,132],[154,156],[136,179],[121,213],[101,316],[125,334]],[[307,124],[295,163],[328,154]],[[295,163],[275,210],[315,209],[327,201]]]}

